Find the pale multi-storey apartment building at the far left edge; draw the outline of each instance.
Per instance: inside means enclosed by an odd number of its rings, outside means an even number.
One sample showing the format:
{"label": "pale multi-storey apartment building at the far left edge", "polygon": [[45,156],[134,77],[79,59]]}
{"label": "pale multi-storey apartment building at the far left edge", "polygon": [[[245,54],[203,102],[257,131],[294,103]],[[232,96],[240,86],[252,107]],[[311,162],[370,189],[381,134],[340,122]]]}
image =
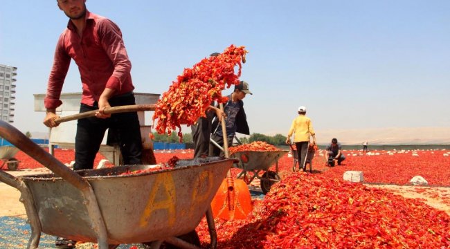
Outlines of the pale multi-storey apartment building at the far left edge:
{"label": "pale multi-storey apartment building at the far left edge", "polygon": [[0,119],[14,121],[17,67],[0,64]]}

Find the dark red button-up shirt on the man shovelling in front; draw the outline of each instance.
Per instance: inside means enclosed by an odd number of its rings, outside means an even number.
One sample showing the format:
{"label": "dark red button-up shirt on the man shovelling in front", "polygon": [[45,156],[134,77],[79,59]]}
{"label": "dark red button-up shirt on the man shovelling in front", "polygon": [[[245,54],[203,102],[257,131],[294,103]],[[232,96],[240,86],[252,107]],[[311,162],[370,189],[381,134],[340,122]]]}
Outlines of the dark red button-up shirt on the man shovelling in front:
{"label": "dark red button-up shirt on the man shovelling in front", "polygon": [[105,88],[114,89],[114,95],[134,89],[130,74],[132,64],[120,28],[111,20],[86,10],[86,27],[82,37],[69,20],[58,39],[44,100],[47,109],[62,104],[61,89],[71,59],[75,60],[80,71],[83,104],[93,106]]}

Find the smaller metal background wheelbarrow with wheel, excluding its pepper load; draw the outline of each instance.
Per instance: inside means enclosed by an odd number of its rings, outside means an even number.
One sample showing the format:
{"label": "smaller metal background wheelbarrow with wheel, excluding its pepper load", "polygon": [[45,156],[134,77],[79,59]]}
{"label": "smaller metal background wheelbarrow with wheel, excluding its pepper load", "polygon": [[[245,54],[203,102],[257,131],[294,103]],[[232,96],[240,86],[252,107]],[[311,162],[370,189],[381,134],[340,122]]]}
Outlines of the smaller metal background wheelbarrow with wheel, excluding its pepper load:
{"label": "smaller metal background wheelbarrow with wheel, excluding its pepper load", "polygon": [[[242,172],[237,174],[237,178],[243,178],[247,184],[251,183],[253,179],[260,179],[261,190],[264,194],[270,191],[273,183],[280,181],[278,176],[278,159],[289,151],[237,151],[230,155],[230,158],[237,158],[239,163],[235,167],[242,169]],[[275,172],[269,170],[275,163]],[[260,176],[260,172],[264,172]],[[251,172],[251,176],[247,176]],[[249,174],[250,175],[250,174]]]}

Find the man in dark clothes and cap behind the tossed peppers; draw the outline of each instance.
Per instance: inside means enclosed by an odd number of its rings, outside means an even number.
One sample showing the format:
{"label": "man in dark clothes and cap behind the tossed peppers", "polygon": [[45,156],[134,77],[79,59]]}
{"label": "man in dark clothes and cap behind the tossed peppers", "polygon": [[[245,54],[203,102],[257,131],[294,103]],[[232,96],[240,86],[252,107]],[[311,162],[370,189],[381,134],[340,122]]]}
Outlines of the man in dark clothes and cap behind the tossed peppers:
{"label": "man in dark clothes and cap behind the tossed peppers", "polygon": [[[241,81],[239,85],[235,86],[233,93],[228,96],[228,102],[226,102],[224,106],[228,145],[233,144],[233,138],[236,133],[250,135],[249,124],[247,123],[247,117],[244,111],[244,102],[242,101],[247,93],[253,94],[249,91],[249,84]],[[217,142],[218,145],[224,146],[222,125],[220,125],[217,118],[213,122],[213,134],[211,138]],[[224,156],[224,151],[217,148],[213,143],[210,143],[209,156]]]}

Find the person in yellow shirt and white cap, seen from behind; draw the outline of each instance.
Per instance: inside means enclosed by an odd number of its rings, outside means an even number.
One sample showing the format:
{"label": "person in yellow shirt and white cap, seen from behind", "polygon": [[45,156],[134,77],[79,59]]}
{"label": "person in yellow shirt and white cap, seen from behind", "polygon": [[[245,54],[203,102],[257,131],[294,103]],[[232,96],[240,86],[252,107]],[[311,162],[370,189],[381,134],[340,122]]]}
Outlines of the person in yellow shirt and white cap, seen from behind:
{"label": "person in yellow shirt and white cap, seen from behind", "polygon": [[312,128],[312,121],[306,115],[306,107],[298,107],[298,117],[292,121],[291,129],[287,133],[286,143],[291,143],[291,136],[294,133],[294,142],[297,148],[298,168],[306,172],[305,161],[312,137],[312,145],[316,144],[316,133]]}

